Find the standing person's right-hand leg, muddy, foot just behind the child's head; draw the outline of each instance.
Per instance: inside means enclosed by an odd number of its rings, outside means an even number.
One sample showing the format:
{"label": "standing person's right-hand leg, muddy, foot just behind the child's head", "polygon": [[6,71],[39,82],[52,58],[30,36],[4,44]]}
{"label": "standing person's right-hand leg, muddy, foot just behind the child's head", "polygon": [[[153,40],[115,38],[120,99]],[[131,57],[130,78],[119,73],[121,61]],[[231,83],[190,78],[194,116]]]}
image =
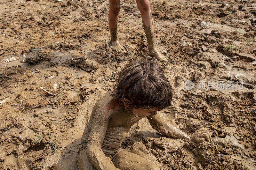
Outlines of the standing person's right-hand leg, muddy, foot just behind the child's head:
{"label": "standing person's right-hand leg, muddy, foot just behind the child's head", "polygon": [[168,58],[160,53],[156,48],[156,40],[153,27],[153,18],[149,5],[149,0],[136,0],[137,6],[140,10],[142,24],[148,40],[148,49],[151,55],[153,55],[159,61],[168,61]]}

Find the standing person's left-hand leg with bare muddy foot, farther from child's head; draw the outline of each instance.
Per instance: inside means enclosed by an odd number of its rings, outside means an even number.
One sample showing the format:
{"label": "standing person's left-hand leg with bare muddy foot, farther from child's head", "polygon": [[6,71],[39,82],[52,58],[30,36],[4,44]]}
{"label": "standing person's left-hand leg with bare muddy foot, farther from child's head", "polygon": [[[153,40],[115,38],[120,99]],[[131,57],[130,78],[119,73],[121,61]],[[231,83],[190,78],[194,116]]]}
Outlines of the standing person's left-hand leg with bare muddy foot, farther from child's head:
{"label": "standing person's left-hand leg with bare muddy foot, farther from child's head", "polygon": [[120,11],[120,0],[109,0],[108,24],[111,34],[109,46],[116,52],[122,52],[124,49],[117,41],[117,16]]}

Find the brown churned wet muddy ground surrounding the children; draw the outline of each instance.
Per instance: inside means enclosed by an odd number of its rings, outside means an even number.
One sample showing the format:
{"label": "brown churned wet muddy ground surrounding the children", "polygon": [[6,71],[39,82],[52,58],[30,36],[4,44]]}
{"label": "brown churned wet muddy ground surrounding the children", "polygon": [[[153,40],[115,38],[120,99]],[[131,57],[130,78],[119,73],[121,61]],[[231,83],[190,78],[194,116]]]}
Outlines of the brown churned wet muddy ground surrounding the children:
{"label": "brown churned wet muddy ground surrounding the children", "polygon": [[[143,118],[121,147],[161,170],[255,169],[256,1],[150,3],[157,45],[169,58],[158,64],[174,88],[163,116],[189,134],[208,128],[213,143],[191,148]],[[94,103],[131,59],[151,58],[135,1],[121,1],[118,30],[123,54],[106,43],[108,1],[0,0],[0,169],[78,169]],[[40,49],[38,63],[21,63],[30,48]],[[99,68],[69,63],[84,55]],[[11,57],[16,60],[5,62]],[[186,80],[193,89],[185,88]],[[196,87],[219,81],[235,87],[242,80],[243,89]]]}

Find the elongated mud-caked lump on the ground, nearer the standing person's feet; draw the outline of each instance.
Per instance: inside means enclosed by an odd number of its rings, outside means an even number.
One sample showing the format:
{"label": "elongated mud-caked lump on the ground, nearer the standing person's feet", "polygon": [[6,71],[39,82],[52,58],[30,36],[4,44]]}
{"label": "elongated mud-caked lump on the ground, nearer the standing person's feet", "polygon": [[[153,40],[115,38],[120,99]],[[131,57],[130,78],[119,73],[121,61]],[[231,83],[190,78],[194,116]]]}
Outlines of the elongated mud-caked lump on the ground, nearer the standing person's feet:
{"label": "elongated mud-caked lump on the ground, nearer the standing person's feet", "polygon": [[97,70],[100,65],[98,62],[86,57],[77,57],[75,59],[71,59],[70,63],[85,71]]}

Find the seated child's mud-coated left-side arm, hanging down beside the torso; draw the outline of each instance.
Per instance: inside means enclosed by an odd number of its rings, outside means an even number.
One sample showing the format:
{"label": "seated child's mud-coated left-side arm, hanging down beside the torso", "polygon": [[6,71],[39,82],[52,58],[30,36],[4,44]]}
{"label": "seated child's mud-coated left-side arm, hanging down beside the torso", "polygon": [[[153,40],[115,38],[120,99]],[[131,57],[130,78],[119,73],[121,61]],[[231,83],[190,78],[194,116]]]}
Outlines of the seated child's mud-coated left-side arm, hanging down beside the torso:
{"label": "seated child's mud-coated left-side arm, hanging down beside the torso", "polygon": [[111,162],[110,158],[107,158],[104,152],[101,150],[107,127],[108,120],[105,115],[105,107],[99,102],[96,108],[95,116],[92,122],[92,128],[88,137],[88,143],[86,147],[86,153],[88,160],[98,170],[119,170]]}

